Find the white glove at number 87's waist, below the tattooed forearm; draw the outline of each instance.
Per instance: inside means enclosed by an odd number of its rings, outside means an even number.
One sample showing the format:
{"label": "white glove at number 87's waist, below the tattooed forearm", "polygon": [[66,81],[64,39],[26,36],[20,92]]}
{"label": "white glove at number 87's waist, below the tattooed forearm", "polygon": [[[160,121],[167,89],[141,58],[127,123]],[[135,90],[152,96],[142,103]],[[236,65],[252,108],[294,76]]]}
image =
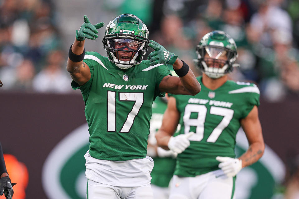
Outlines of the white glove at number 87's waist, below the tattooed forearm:
{"label": "white glove at number 87's waist, below the tattooed forearm", "polygon": [[234,177],[242,169],[242,160],[238,158],[217,156],[216,160],[221,162],[218,167],[227,177]]}

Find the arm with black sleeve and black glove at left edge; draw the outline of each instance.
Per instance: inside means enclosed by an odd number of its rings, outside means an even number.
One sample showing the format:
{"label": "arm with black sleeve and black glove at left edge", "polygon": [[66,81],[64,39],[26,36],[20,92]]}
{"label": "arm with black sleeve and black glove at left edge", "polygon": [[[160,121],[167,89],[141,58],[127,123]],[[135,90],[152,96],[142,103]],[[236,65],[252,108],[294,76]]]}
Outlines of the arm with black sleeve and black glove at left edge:
{"label": "arm with black sleeve and black glove at left edge", "polygon": [[4,158],[3,158],[2,146],[0,143],[0,196],[2,196],[4,193],[4,196],[7,199],[12,199],[13,196],[12,186],[14,186],[15,184],[16,183],[12,183],[7,173]]}

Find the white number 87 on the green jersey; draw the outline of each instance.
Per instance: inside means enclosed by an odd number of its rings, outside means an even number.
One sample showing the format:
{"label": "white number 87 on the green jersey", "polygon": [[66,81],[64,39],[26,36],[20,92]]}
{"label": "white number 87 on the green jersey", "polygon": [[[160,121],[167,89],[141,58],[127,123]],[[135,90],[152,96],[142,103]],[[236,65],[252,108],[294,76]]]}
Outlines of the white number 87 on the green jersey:
{"label": "white number 87 on the green jersey", "polygon": [[[196,119],[191,119],[191,113],[198,113]],[[204,133],[204,123],[206,120],[207,108],[205,105],[200,104],[187,104],[183,121],[185,125],[185,134],[190,132],[190,126],[196,127],[195,135],[190,137],[191,141],[201,141]],[[224,116],[221,122],[212,131],[211,135],[206,140],[207,142],[216,142],[223,129],[229,124],[234,115],[234,110],[222,107],[211,106],[210,114]]]}

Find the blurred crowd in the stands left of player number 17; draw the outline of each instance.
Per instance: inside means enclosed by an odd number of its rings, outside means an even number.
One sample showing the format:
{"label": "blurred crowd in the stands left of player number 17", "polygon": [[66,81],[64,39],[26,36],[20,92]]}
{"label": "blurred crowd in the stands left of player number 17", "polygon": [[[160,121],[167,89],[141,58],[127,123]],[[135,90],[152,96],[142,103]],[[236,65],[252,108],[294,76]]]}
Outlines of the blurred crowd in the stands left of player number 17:
{"label": "blurred crowd in the stands left of player number 17", "polygon": [[0,1],[0,79],[3,90],[71,90],[66,54],[51,1]]}

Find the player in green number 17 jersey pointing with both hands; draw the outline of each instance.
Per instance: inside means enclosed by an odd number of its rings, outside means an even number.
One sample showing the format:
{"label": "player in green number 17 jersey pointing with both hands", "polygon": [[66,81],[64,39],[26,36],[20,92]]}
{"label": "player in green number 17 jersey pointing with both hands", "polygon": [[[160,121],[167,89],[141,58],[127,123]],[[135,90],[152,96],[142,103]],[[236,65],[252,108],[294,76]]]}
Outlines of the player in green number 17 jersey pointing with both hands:
{"label": "player in green number 17 jersey pointing with both hands", "polygon": [[[146,147],[153,101],[165,92],[196,95],[201,87],[186,63],[148,39],[146,25],[135,15],[108,23],[107,57],[85,52],[84,39],[95,40],[103,25],[84,16],[67,63],[73,89],[82,92],[89,127],[87,198],[152,198],[153,160]],[[142,60],[148,46],[154,52]],[[180,77],[171,76],[167,64]]]}

